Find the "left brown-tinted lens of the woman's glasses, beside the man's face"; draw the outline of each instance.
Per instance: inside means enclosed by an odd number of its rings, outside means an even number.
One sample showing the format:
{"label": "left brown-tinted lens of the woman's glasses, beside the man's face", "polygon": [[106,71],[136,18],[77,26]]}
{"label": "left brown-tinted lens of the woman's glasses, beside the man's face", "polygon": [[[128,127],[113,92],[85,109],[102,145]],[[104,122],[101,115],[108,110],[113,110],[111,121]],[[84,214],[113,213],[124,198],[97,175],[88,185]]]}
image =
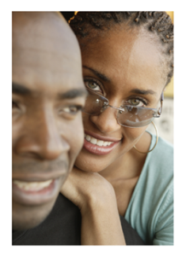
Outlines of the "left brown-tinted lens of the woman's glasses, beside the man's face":
{"label": "left brown-tinted lens of the woman's glasses, beside the man's face", "polygon": [[97,115],[101,113],[102,108],[104,107],[104,102],[107,102],[104,97],[98,96],[95,93],[88,91],[89,95],[86,98],[83,112],[89,113],[92,115]]}

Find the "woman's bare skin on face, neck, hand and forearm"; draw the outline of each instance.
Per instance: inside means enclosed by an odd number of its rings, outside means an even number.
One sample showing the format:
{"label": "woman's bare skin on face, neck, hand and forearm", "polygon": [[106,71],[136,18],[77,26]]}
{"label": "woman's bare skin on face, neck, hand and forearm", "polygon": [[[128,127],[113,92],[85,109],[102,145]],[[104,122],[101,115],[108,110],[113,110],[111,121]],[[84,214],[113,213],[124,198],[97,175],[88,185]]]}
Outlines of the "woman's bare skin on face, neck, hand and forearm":
{"label": "woman's bare skin on face, neck, hand and forearm", "polygon": [[[100,32],[101,36],[97,32],[91,40],[79,39],[85,86],[106,96],[109,104],[118,108],[124,101],[160,108],[167,75],[160,42],[149,38],[145,29],[125,25],[113,28],[105,34]],[[97,116],[83,113],[83,121],[85,134],[88,131],[102,141],[113,138],[119,143],[102,155],[82,148],[61,192],[81,209],[83,244],[125,245],[119,214],[125,216],[147,157],[133,146],[147,152],[151,136],[145,132],[147,126],[119,125],[113,108]]]}

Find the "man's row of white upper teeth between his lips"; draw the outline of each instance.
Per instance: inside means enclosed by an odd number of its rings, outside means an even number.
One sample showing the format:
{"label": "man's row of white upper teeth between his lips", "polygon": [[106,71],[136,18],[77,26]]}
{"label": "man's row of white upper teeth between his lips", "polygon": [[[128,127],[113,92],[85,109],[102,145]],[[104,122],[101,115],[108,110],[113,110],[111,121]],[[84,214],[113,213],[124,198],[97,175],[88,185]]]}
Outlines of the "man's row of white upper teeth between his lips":
{"label": "man's row of white upper teeth between his lips", "polygon": [[34,183],[26,183],[21,182],[19,180],[14,180],[13,183],[18,186],[20,189],[29,190],[29,191],[38,191],[44,188],[47,188],[50,183],[52,183],[53,179],[49,179],[45,182],[34,182]]}

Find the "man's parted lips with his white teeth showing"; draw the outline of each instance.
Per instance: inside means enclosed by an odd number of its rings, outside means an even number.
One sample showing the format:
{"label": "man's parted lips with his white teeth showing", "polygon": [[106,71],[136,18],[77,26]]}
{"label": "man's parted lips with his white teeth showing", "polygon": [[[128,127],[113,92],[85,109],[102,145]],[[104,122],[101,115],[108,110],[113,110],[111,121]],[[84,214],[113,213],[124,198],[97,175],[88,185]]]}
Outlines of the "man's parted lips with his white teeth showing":
{"label": "man's parted lips with his white teeth showing", "polygon": [[54,199],[59,190],[59,183],[59,178],[35,184],[13,180],[14,201],[27,206],[44,204]]}

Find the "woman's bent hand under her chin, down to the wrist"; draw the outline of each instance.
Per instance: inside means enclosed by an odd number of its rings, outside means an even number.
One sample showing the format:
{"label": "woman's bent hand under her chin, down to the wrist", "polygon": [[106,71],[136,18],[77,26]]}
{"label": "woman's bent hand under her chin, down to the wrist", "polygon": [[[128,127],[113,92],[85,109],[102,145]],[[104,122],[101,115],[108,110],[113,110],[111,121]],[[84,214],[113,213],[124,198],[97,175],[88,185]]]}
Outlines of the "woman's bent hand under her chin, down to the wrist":
{"label": "woman's bent hand under her chin, down to the wrist", "polygon": [[98,173],[84,172],[77,167],[67,177],[67,181],[61,188],[61,194],[81,210],[87,207],[87,204],[102,204],[102,202],[115,200],[115,194],[111,183]]}

